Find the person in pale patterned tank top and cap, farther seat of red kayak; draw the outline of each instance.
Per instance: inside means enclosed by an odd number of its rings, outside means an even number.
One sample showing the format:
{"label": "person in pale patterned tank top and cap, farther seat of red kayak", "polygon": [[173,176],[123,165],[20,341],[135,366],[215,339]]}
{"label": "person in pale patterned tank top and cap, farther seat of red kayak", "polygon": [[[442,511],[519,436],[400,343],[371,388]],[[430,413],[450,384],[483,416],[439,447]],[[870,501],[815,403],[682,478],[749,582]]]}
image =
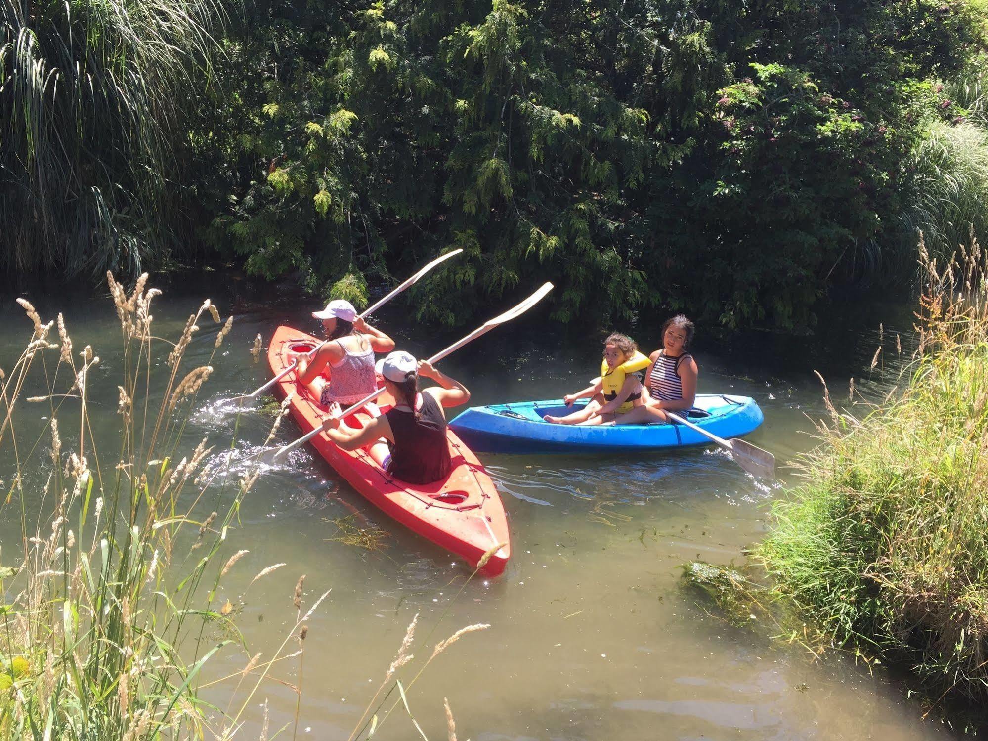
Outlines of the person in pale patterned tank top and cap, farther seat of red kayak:
{"label": "person in pale patterned tank top and cap, farther seat of red kayak", "polygon": [[[298,379],[323,406],[360,401],[377,387],[373,354],[394,350],[394,340],[371,327],[350,301],[341,298],[330,301],[322,311],[313,311],[312,316],[322,320],[333,342],[323,345],[311,362],[298,356]],[[327,369],[329,380],[323,377]]]}

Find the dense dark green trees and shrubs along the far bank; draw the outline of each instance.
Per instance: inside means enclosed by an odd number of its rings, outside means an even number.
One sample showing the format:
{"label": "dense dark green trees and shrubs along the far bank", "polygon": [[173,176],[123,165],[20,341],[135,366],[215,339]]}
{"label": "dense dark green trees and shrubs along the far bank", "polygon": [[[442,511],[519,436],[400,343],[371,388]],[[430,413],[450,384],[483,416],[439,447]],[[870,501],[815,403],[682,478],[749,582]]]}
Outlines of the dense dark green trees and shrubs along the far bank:
{"label": "dense dark green trees and shrubs along the far bank", "polygon": [[[174,229],[197,225],[250,273],[358,302],[369,280],[463,247],[418,288],[424,318],[548,279],[559,320],[682,308],[805,326],[829,285],[911,272],[917,227],[945,249],[968,219],[984,228],[981,5],[230,6],[215,84],[188,79],[191,135],[171,140],[189,166],[155,193],[175,199]],[[171,48],[183,68],[203,55]],[[26,74],[19,58],[5,79]],[[23,230],[27,214],[5,219]],[[164,240],[154,229],[135,233]]]}

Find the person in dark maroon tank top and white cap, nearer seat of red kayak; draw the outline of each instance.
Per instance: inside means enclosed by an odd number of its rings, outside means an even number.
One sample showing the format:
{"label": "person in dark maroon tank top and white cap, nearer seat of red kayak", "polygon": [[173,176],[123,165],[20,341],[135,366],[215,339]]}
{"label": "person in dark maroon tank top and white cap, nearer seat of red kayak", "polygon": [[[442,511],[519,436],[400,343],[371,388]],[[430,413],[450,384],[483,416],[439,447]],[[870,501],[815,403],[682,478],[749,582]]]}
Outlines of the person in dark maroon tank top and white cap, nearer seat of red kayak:
{"label": "person in dark maroon tank top and white cap, nearer seat of red kayak", "polygon": [[[431,484],[446,478],[453,462],[443,407],[465,404],[470,392],[428,361],[417,363],[401,350],[378,361],[377,368],[395,405],[355,430],[337,419],[340,407],[334,404],[330,407],[333,416],[323,422],[322,429],[344,451],[370,446],[371,457],[402,481]],[[419,376],[432,378],[439,385],[420,393]]]}

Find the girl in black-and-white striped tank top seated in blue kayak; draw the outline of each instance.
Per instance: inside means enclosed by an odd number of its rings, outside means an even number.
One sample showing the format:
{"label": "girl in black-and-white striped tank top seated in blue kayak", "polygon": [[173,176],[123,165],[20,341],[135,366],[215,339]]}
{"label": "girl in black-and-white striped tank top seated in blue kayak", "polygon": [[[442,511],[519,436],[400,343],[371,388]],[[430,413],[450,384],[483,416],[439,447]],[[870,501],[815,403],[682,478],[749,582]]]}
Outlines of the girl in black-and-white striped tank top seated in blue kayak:
{"label": "girl in black-and-white striped tank top seated in blue kayak", "polygon": [[696,328],[683,314],[662,325],[662,348],[649,357],[642,393],[645,403],[618,414],[616,425],[668,422],[665,410],[684,413],[697,400],[697,361],[688,352]]}

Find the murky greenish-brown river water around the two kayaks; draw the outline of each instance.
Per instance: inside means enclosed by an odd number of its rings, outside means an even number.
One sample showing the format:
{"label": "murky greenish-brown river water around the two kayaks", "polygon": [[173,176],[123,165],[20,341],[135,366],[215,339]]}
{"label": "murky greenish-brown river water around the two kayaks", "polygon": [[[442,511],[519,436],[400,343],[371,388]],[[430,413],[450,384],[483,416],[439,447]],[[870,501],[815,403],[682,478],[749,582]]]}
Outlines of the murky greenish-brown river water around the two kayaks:
{"label": "murky greenish-brown river water around the two kayaks", "polygon": [[[254,365],[248,352],[254,336],[268,338],[283,322],[310,331],[314,324],[285,300],[258,300],[224,279],[168,289],[156,299],[157,334],[177,337],[210,292],[224,317],[232,308],[235,323],[196,402],[187,429],[190,450],[203,436],[228,444],[235,417],[224,411],[222,399],[267,380],[264,361]],[[512,304],[524,292],[502,303]],[[112,438],[120,424],[119,324],[112,304],[36,293],[28,295],[42,316],[63,311],[77,349],[92,344],[103,359],[90,395],[96,434]],[[695,343],[700,391],[758,400],[766,422],[750,440],[776,454],[788,481],[792,471],[782,464],[813,446],[812,420],[826,414],[812,371],[826,376],[839,402],[847,399],[851,376],[867,397],[877,398],[891,388],[901,364],[895,331],[902,334],[903,353],[911,347],[908,309],[858,306],[824,315],[812,336],[714,337],[701,327]],[[444,362],[444,370],[466,382],[474,404],[552,398],[582,387],[597,374],[601,335],[560,330],[545,316],[536,310],[495,330]],[[9,368],[30,336],[30,323],[12,296],[0,299],[0,319],[0,367]],[[420,330],[407,304],[382,310],[376,323],[417,355],[466,331]],[[658,346],[658,333],[657,323],[632,329],[645,352]],[[213,336],[204,329],[196,337],[188,368],[206,362]],[[871,371],[879,342],[883,350]],[[43,435],[43,424],[25,422],[20,433]],[[270,424],[268,415],[248,414],[237,435],[244,445],[257,446]],[[297,435],[289,418],[279,440]],[[257,651],[274,655],[295,618],[293,586],[306,574],[303,609],[332,592],[308,622],[301,737],[347,738],[416,614],[416,659],[398,675],[406,686],[436,641],[465,625],[490,624],[464,635],[408,690],[411,710],[430,739],[447,737],[444,698],[458,738],[474,741],[946,737],[944,727],[922,720],[923,709],[881,672],[872,676],[838,655],[813,660],[763,632],[730,627],[684,589],[684,563],[742,562],[743,548],[765,533],[767,508],[780,494],[729,458],[701,449],[480,457],[510,518],[513,558],[502,577],[465,587],[468,572],[453,556],[380,515],[309,451],[262,476],[229,535],[230,552],[250,552],[223,579],[213,604],[230,600],[247,648],[231,645],[216,654],[204,681],[238,672]],[[0,449],[0,478],[9,480],[10,458]],[[343,518],[365,531],[378,529],[380,548],[341,540],[334,521]],[[0,512],[0,544],[13,547],[19,533],[14,508]],[[275,563],[287,565],[247,589],[255,574]],[[299,683],[298,659],[279,664],[274,676],[283,682],[259,688],[240,737],[259,735],[265,700],[272,732],[291,721],[296,694],[288,684]],[[220,682],[204,694],[222,707],[235,689],[235,681]],[[242,699],[245,690],[241,686],[236,696]],[[290,725],[284,733],[291,733]],[[401,705],[375,735],[418,737]]]}

